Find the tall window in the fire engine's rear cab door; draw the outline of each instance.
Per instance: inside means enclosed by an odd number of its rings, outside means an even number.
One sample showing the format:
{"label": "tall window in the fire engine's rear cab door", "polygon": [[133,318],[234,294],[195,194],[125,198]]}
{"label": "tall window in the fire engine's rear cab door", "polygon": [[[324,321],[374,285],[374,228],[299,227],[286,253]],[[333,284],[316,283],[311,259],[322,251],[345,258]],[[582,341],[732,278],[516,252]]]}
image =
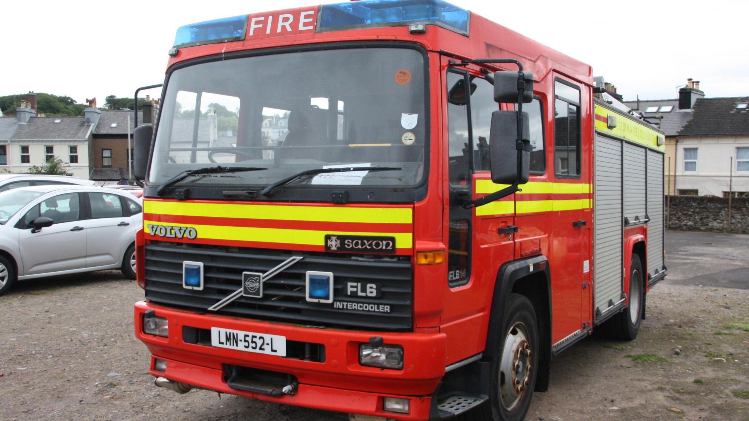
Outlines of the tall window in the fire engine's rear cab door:
{"label": "tall window in the fire engine's rear cab door", "polygon": [[580,88],[554,82],[554,169],[561,178],[580,176]]}

